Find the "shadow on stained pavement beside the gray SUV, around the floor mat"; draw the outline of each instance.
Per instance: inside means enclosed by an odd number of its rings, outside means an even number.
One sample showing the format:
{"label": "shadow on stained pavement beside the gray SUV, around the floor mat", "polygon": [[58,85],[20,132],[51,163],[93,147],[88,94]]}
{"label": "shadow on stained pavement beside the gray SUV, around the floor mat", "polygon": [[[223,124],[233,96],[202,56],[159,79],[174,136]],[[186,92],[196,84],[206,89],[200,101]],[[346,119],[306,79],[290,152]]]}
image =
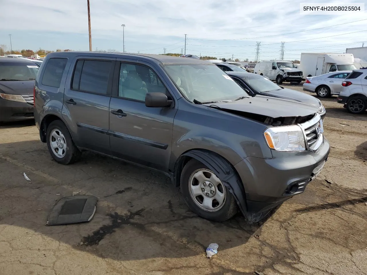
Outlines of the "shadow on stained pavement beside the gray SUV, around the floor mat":
{"label": "shadow on stained pavement beside the gray SUV, around the floor mat", "polygon": [[[15,142],[12,150],[8,145],[0,144],[0,228],[27,228],[99,257],[139,260],[204,254],[212,242],[229,249],[246,243],[260,227],[240,214],[224,223],[197,217],[166,176],[148,169],[88,152],[64,166],[39,141]],[[54,203],[73,191],[98,197],[94,219],[46,226]]]}

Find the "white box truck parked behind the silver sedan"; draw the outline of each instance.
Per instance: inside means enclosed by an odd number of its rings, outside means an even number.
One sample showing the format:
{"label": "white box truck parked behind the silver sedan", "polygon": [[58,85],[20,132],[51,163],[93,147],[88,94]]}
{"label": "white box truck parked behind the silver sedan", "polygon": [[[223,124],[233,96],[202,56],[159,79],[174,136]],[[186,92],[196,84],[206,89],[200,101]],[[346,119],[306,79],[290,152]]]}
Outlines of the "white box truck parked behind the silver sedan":
{"label": "white box truck parked behind the silver sedan", "polygon": [[310,76],[320,76],[329,72],[351,71],[357,69],[354,65],[353,54],[335,53],[301,53],[301,71],[304,78]]}

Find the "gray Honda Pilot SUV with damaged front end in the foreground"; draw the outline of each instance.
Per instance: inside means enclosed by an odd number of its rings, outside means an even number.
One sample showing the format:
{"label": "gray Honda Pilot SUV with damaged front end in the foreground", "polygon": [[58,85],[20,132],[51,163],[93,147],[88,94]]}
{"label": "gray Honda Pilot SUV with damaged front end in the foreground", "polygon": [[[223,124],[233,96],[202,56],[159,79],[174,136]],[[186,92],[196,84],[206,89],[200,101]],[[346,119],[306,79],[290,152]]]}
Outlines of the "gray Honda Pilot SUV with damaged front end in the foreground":
{"label": "gray Honda Pilot SUV with damaged front end in the foreground", "polygon": [[166,55],[53,52],[34,118],[61,164],[91,150],[164,172],[189,208],[250,223],[304,192],[327,160],[317,108],[249,96],[214,64]]}

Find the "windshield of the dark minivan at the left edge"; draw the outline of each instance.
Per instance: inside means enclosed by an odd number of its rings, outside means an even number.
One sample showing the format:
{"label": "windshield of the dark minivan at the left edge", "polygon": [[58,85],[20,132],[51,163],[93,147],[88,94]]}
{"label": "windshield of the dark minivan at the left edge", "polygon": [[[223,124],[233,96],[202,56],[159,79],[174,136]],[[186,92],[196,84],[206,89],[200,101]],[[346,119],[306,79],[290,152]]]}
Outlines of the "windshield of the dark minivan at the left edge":
{"label": "windshield of the dark minivan at the left edge", "polygon": [[0,63],[0,80],[34,80],[39,66],[30,63]]}

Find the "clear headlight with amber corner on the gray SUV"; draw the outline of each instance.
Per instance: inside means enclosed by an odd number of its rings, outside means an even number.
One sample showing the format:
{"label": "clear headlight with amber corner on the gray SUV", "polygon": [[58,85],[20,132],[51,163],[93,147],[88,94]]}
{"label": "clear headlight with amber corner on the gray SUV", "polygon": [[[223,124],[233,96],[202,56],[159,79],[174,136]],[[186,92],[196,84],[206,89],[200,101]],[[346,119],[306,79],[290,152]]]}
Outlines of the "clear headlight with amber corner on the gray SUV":
{"label": "clear headlight with amber corner on the gray SUV", "polygon": [[298,125],[269,127],[264,132],[269,148],[288,152],[305,151],[305,137]]}

